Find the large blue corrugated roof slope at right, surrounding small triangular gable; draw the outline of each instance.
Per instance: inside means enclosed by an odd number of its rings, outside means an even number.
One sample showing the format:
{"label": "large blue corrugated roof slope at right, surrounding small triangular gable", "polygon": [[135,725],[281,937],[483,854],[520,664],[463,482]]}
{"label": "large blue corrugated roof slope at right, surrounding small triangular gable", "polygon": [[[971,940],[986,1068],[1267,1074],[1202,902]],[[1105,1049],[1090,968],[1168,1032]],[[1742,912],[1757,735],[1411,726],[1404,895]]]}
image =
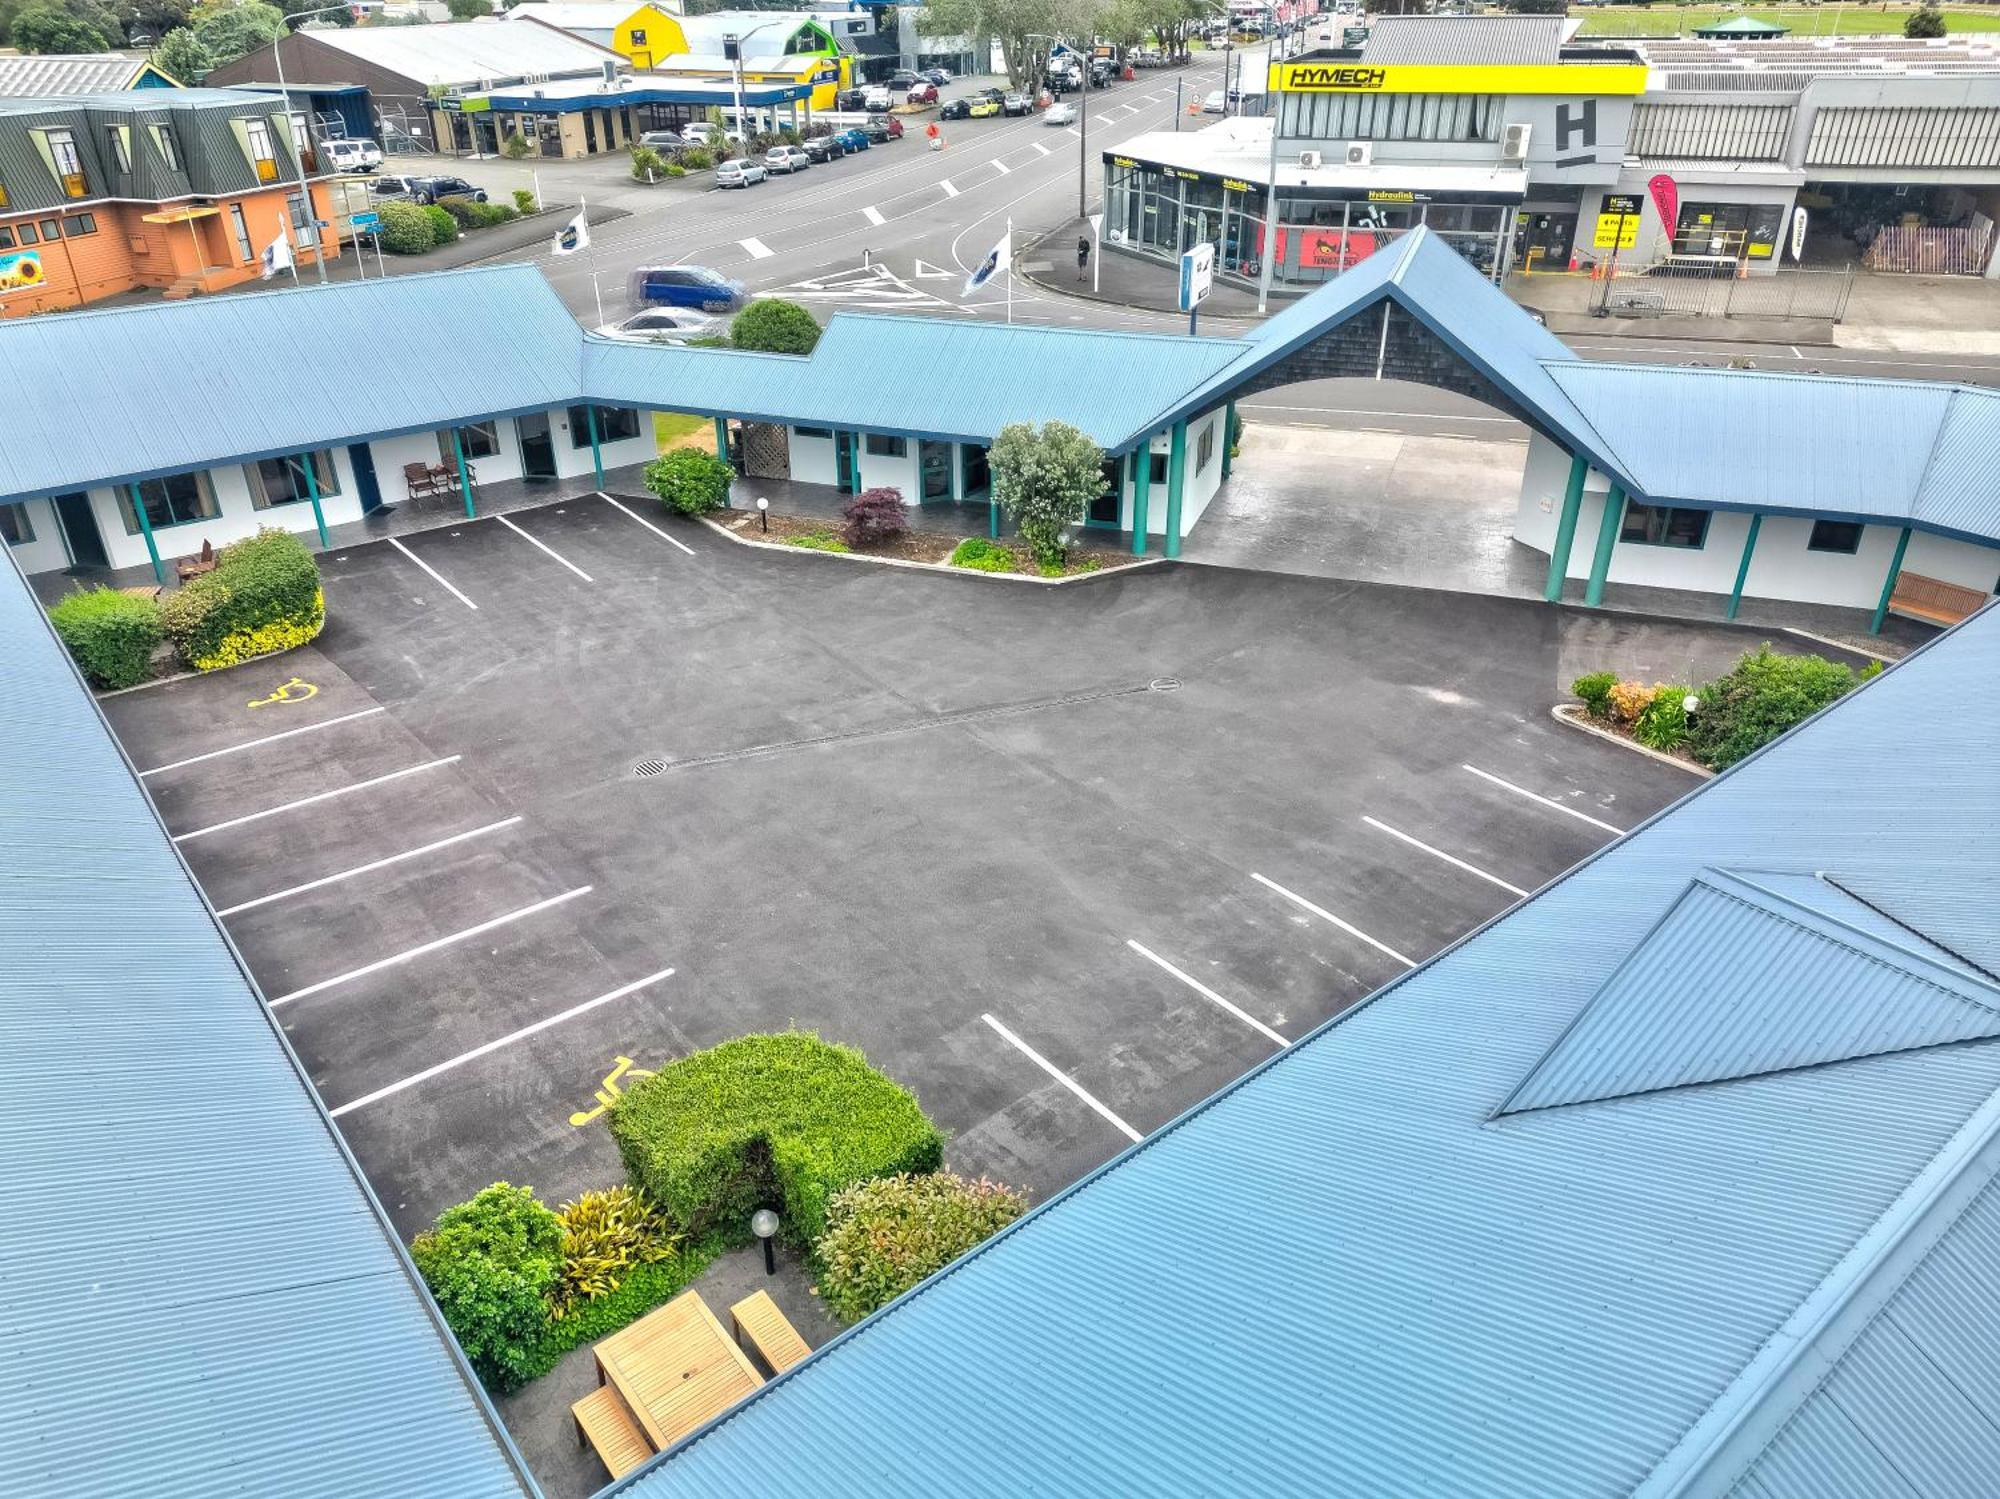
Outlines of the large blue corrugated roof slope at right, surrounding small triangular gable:
{"label": "large blue corrugated roof slope at right, surrounding small triangular gable", "polygon": [[[2000,1041],[1492,1113],[1704,867],[1834,869],[1860,891],[1992,881],[2000,843],[1968,829],[2000,825],[2000,700],[1966,684],[1994,678],[1990,610],[622,1493],[1596,1499],[1668,1473],[1710,1423],[1768,1441],[1788,1415],[1770,1391],[1824,1367],[1796,1335],[1818,1325],[1804,1313],[1862,1305],[1862,1281],[1900,1263],[1914,1197],[1992,1177]],[[1994,913],[1938,903],[1922,929],[1966,951]],[[1976,1295],[1990,1303],[1992,1279]],[[1954,1443],[1960,1471],[2000,1471],[1994,1429]]]}

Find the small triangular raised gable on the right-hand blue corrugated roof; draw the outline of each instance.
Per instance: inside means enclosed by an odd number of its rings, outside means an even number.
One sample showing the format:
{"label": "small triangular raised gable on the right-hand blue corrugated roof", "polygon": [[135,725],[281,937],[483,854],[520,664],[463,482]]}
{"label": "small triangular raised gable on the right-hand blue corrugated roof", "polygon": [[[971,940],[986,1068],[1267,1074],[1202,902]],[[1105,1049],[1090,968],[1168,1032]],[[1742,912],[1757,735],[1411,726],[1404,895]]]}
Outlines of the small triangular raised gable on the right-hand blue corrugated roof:
{"label": "small triangular raised gable on the right-hand blue corrugated roof", "polygon": [[1854,907],[1810,873],[1704,869],[1500,1113],[2000,1035],[2000,987]]}

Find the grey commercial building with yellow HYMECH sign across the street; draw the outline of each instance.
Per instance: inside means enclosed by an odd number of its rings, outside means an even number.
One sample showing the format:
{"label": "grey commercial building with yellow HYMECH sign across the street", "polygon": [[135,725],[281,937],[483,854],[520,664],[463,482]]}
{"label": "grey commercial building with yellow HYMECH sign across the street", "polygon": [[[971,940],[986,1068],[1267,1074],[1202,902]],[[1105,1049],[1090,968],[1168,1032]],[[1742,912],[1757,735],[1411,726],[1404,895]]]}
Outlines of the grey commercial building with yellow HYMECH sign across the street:
{"label": "grey commercial building with yellow HYMECH sign across the street", "polygon": [[[1106,240],[1162,262],[1208,242],[1222,276],[1268,272],[1280,294],[1418,224],[1492,278],[1614,258],[1702,274],[1788,258],[2000,272],[2000,48],[1584,44],[1556,16],[1384,16],[1360,46],[1276,62],[1276,124],[1230,118],[1106,154]],[[1672,222],[1650,190],[1662,176]]]}

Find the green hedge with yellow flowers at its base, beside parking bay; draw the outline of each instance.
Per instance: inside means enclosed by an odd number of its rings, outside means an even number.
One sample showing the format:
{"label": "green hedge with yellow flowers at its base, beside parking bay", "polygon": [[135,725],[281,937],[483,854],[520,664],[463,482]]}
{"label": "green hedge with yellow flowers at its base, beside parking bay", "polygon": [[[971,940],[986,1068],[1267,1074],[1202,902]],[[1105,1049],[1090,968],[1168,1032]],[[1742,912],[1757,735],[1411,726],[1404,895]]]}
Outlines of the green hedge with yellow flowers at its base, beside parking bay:
{"label": "green hedge with yellow flowers at its base, beside parking bay", "polygon": [[320,566],[290,532],[258,532],[216,554],[160,606],[174,652],[196,672],[304,646],[326,624]]}

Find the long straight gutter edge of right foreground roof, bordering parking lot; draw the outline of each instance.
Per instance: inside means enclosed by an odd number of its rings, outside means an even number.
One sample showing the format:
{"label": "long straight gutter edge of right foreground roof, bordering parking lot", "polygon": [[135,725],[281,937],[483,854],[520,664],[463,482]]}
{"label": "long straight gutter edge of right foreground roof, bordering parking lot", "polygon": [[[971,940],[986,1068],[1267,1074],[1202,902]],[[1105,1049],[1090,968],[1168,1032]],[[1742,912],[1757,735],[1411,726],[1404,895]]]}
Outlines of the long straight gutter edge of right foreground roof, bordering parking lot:
{"label": "long straight gutter edge of right foreground roof, bordering parking lot", "polygon": [[[1714,793],[1714,789],[1718,785],[1728,785],[1734,777],[1746,773],[1748,765],[1754,765],[1760,759],[1764,759],[1766,755],[1778,751],[1778,748],[1784,746],[1784,744],[1790,744],[1790,740],[1794,736],[1810,732],[1810,728],[1814,724],[1822,724],[1828,718],[1834,718],[1836,714],[1840,714],[1842,710],[1852,712],[1854,704],[1862,702],[1866,698],[1866,694],[1874,688],[1876,682],[1882,682],[1890,674],[1904,670],[1910,662],[1922,660],[1932,650],[1936,650],[1942,642],[1948,642],[1954,636],[1958,636],[1960,632],[1964,632],[1980,616],[1974,614],[1974,616],[1970,616],[1966,620],[1960,620],[1956,626],[1952,626],[1948,630],[1942,630],[1940,634],[1932,636],[1922,646],[1918,646],[1914,652],[1910,652],[1908,656],[1904,656],[1900,662],[1892,662],[1888,668],[1884,668],[1884,672],[1874,682],[1866,682],[1866,684],[1862,684],[1860,690],[1844,694],[1842,698],[1836,698],[1832,704],[1828,704],[1826,708],[1822,708],[1812,718],[1808,718],[1808,720],[1804,720],[1800,724],[1794,724],[1790,730],[1786,730],[1784,734],[1780,734],[1770,744],[1764,744],[1758,750],[1752,750],[1748,755],[1744,755],[1742,759],[1738,759],[1734,765],[1728,765],[1722,771],[1718,771],[1714,779],[1706,781],[1704,785],[1694,787],[1692,791],[1688,791],[1682,797],[1676,797],[1668,805],[1664,805],[1658,811],[1654,811],[1650,817],[1644,817],[1642,821],[1638,821],[1636,825],[1632,825],[1622,837],[1614,837],[1608,843],[1602,843],[1594,851],[1586,853],[1582,859],[1578,859],[1568,869],[1564,869],[1562,873],[1558,873],[1546,885],[1542,885],[1540,889],[1536,889],[1534,893],[1530,893],[1528,899],[1516,901],[1514,905],[1506,907],[1504,911],[1498,911],[1496,915],[1488,917],[1486,921],[1480,921],[1476,927],[1472,927],[1470,931],[1466,931],[1458,939],[1446,943],[1444,947],[1440,947],[1436,953],[1432,953],[1430,957],[1426,957],[1416,967],[1412,967],[1412,969],[1408,969],[1404,973],[1398,973],[1396,977],[1388,979],[1380,989],[1374,989],[1372,993],[1362,995],[1358,1001],[1354,1001],[1346,1009],[1338,1011],[1336,1015],[1328,1017],[1318,1027],[1314,1027],[1312,1031],[1306,1031],[1304,1035],[1300,1035],[1296,1041],[1292,1041],[1282,1051],[1266,1057],[1264,1061],[1254,1063],[1246,1073],[1242,1073],[1234,1081],[1224,1083],[1214,1093],[1210,1093],[1208,1097],[1204,1097],[1200,1103],[1194,1103],[1190,1109],[1186,1109],[1184,1113],[1176,1115],[1174,1119],[1168,1119],[1164,1125],[1160,1125],[1158,1129],[1154,1129],[1144,1139],[1140,1139],[1134,1145],[1128,1145],[1126,1149],[1122,1149],[1116,1155],[1112,1155],[1108,1161],[1104,1161],[1102,1165],[1098,1165],[1094,1171],[1090,1171],[1084,1177],[1078,1177],[1076,1181],[1072,1181],[1068,1187],[1064,1187],[1062,1191],[1058,1191],[1054,1197],[1048,1197],[1046,1201],[1042,1201],[1036,1207],[1028,1209],[1028,1213],[1024,1213],[1022,1217],[1018,1217],[1012,1223],[1008,1223],[1004,1229],[1000,1229],[998,1233],[994,1233],[984,1243],[976,1245],[974,1249],[968,1249],[964,1255],[960,1255],[958,1259],[954,1259],[950,1265],[946,1265],[944,1269],[936,1271],[934,1275],[926,1277],[916,1287],[904,1291],[900,1297],[896,1297],[894,1301],[890,1301],[886,1307],[878,1307],[876,1311],[872,1311],[862,1321],[858,1321],[852,1327],[844,1329],[832,1341],[822,1343],[818,1349],[812,1351],[810,1357],[802,1359],[800,1363],[794,1363],[784,1373],[768,1379],[764,1385],[760,1385],[758,1389],[754,1389],[748,1395],[744,1395],[740,1401],[736,1401],[736,1405],[732,1405],[728,1411],[724,1411],[716,1419],[712,1419],[712,1421],[696,1427],[686,1437],[682,1437],[680,1441],[676,1441],[672,1447],[668,1447],[668,1449],[664,1449],[660,1453],[654,1453],[646,1463],[642,1463],[640,1467],[632,1469],[626,1477],[622,1477],[622,1479],[606,1485],[604,1489],[600,1489],[594,1499],[610,1499],[610,1495],[626,1493],[628,1489],[636,1487],[640,1479],[644,1479],[646,1475],[650,1475],[656,1469],[664,1467],[666,1461],[672,1455],[682,1453],[682,1451],[698,1445],[708,1433],[718,1431],[728,1421],[736,1419],[738,1415],[742,1415],[744,1411],[748,1411],[752,1405],[756,1405],[758,1401],[762,1401],[770,1391],[778,1389],[786,1381],[790,1381],[790,1379],[802,1375],[804,1371],[812,1369],[824,1357],[828,1357],[834,1349],[846,1345],[852,1339],[858,1339],[862,1333],[866,1333],[868,1329],[872,1329],[878,1321],[882,1321],[884,1317],[890,1317],[906,1301],[914,1301],[914,1299],[922,1297],[930,1287],[942,1285],[948,1277],[952,1277],[958,1271],[962,1271],[974,1259],[984,1257],[986,1253],[990,1253],[1000,1243],[1006,1243],[1016,1233],[1030,1231],[1042,1219],[1042,1215],[1048,1213],[1048,1211],[1052,1211],[1058,1203],[1064,1203],[1070,1197],[1076,1197],[1076,1195],[1088,1191],[1098,1181],[1098,1177],[1104,1177],[1104,1175],[1116,1171],[1120,1165],[1124,1165],[1126,1161],[1134,1159],[1140,1151],[1150,1149],[1154,1143],[1158,1143],[1158,1141],[1166,1139],[1168,1135],[1176,1133],[1182,1125],[1190,1123],[1192,1119],[1202,1117],[1212,1107],[1216,1107],[1218,1103],[1222,1103],[1228,1097],[1234,1097],[1244,1087],[1250,1087],[1266,1071],[1272,1071],[1274,1067],[1278,1067],[1280,1063],[1284,1063],[1294,1053],[1302,1051],[1308,1045],[1318,1043],[1326,1035],[1332,1035],[1336,1031],[1336,1027],[1346,1025],[1350,1019],[1354,1019],[1362,1011],[1372,1009],[1376,1003],[1382,1003],[1388,995],[1400,991],[1402,985],[1410,983],[1416,975],[1428,973],[1434,965],[1438,965],[1444,959],[1448,959],[1460,947],[1466,947],[1472,941],[1478,941],[1486,931],[1490,931],[1490,929],[1498,927],[1500,923],[1512,919],[1522,909],[1526,909],[1530,903],[1534,903],[1538,899],[1544,899],[1544,897],[1550,895],[1550,891],[1566,885],[1572,879],[1578,879],[1586,869],[1594,867],[1598,863],[1598,859],[1606,857],[1614,847],[1622,847],[1628,839],[1638,837],[1640,833],[1644,833],[1652,825],[1656,825],[1656,823],[1672,817],[1690,799],[1694,799],[1698,795],[1710,795],[1710,793]],[[2000,1089],[1996,1089],[1994,1099],[2000,1099]]]}

